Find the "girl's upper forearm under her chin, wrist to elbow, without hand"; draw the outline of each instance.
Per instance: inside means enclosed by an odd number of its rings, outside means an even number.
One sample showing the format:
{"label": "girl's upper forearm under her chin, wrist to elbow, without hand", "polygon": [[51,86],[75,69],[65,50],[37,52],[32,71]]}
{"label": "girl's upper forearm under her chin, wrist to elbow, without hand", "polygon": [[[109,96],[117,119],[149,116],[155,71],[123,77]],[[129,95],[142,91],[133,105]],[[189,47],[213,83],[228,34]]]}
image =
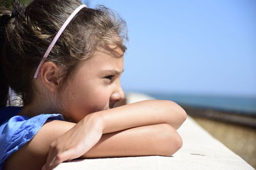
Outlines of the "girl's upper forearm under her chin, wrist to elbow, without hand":
{"label": "girl's upper forearm under her chin, wrist to elbow, without hand", "polygon": [[178,129],[186,119],[186,112],[178,104],[159,100],[127,104],[93,115],[102,119],[102,134],[154,124],[170,124]]}

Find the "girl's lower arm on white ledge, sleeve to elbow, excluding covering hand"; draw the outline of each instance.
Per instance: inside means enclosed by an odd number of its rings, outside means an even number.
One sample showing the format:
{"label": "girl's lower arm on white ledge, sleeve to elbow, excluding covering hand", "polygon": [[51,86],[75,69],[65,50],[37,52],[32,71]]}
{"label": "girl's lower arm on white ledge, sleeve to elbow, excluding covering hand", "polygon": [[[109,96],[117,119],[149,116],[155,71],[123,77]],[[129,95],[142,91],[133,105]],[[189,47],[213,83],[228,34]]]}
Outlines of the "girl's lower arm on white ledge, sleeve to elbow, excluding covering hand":
{"label": "girl's lower arm on white ledge, sleeve to elbow, excluding covering hand", "polygon": [[[7,159],[4,169],[41,169],[52,141],[75,124],[53,120],[19,151]],[[152,138],[153,137],[153,138]],[[44,145],[42,145],[44,144]],[[168,124],[134,127],[102,135],[99,142],[81,156],[86,158],[142,155],[170,156],[182,145],[179,134]]]}

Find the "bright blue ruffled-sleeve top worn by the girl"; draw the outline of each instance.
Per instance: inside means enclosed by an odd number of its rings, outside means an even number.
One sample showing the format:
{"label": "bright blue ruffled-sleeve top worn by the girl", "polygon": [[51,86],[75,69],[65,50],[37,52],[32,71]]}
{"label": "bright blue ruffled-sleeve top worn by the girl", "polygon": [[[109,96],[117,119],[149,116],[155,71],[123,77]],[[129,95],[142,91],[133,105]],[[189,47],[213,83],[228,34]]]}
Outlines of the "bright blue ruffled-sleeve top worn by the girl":
{"label": "bright blue ruffled-sleeve top worn by the girl", "polygon": [[30,141],[47,120],[64,120],[61,114],[20,116],[20,109],[9,106],[0,110],[0,170],[4,161]]}

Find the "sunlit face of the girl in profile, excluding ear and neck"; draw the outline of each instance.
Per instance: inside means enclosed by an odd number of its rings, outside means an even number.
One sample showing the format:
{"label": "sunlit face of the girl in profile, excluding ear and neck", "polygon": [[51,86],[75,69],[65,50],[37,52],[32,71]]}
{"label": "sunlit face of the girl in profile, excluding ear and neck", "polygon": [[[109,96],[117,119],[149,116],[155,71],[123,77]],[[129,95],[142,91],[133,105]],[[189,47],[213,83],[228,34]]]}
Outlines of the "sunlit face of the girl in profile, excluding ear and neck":
{"label": "sunlit face of the girl in profile, excluding ear and neck", "polygon": [[118,57],[108,50],[100,50],[89,60],[82,60],[64,90],[63,115],[79,122],[89,113],[108,110],[124,99],[120,77],[124,67],[124,53],[115,48]]}

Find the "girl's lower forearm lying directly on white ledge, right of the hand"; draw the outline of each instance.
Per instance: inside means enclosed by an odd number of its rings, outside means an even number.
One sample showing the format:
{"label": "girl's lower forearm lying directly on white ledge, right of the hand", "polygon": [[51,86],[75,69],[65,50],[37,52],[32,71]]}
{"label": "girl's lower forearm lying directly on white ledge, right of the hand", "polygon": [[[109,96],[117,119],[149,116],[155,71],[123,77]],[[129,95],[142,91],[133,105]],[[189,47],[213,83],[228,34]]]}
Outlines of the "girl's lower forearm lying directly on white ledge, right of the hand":
{"label": "girl's lower forearm lying directly on white ledge, right of the hand", "polygon": [[147,125],[104,134],[81,158],[171,156],[181,145],[179,134],[170,125]]}

